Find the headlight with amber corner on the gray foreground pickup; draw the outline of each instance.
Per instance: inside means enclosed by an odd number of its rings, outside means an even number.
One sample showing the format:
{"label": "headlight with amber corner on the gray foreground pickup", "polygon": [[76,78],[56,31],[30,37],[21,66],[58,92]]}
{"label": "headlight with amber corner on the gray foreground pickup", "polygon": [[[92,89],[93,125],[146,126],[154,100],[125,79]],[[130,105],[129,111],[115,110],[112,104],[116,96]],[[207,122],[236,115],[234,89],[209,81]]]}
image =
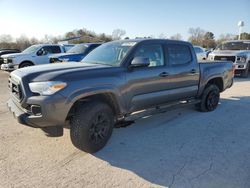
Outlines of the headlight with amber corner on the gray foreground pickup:
{"label": "headlight with amber corner on the gray foreground pickup", "polygon": [[52,95],[65,88],[67,84],[60,81],[32,82],[29,83],[30,90],[40,95]]}

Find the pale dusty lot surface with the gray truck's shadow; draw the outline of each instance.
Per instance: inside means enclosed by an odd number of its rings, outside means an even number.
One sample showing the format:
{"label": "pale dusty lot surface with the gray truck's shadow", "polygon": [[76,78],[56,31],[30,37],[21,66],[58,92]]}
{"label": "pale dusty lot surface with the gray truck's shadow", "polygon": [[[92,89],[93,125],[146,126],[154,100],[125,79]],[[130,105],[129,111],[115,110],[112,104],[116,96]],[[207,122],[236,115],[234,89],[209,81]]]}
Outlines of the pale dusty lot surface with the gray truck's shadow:
{"label": "pale dusty lot surface with the gray truck's shadow", "polygon": [[0,187],[250,187],[250,79],[236,79],[216,111],[186,108],[115,129],[91,155],[69,130],[48,137],[7,111],[0,71]]}

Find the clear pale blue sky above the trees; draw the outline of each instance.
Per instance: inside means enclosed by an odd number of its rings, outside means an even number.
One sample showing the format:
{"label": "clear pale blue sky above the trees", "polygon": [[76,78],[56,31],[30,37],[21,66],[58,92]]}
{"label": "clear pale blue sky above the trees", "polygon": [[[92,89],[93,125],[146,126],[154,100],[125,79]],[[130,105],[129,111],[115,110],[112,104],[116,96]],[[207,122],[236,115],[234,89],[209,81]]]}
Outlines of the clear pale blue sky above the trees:
{"label": "clear pale blue sky above the trees", "polygon": [[238,21],[250,33],[250,0],[0,0],[0,35],[43,38],[86,28],[96,33],[126,31],[130,38],[180,33],[190,27],[237,34]]}

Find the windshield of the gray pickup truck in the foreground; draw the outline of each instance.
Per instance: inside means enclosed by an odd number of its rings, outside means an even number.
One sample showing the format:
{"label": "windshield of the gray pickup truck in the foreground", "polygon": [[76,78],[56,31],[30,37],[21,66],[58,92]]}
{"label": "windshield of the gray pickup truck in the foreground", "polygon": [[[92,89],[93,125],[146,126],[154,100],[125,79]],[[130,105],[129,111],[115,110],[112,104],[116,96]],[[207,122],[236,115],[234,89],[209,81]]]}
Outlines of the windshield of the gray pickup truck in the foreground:
{"label": "windshield of the gray pickup truck in the foreground", "polygon": [[136,44],[129,41],[115,41],[103,44],[90,52],[82,62],[119,66],[128,51]]}

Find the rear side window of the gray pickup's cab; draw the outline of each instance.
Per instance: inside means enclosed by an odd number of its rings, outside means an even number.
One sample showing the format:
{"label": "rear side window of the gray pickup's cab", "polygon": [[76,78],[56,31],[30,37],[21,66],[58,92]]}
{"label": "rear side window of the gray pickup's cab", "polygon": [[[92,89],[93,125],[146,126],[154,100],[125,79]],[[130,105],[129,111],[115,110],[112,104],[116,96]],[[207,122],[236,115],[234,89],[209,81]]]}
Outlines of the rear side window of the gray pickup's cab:
{"label": "rear side window of the gray pickup's cab", "polygon": [[169,44],[167,46],[170,65],[182,65],[192,61],[190,48],[182,44]]}

